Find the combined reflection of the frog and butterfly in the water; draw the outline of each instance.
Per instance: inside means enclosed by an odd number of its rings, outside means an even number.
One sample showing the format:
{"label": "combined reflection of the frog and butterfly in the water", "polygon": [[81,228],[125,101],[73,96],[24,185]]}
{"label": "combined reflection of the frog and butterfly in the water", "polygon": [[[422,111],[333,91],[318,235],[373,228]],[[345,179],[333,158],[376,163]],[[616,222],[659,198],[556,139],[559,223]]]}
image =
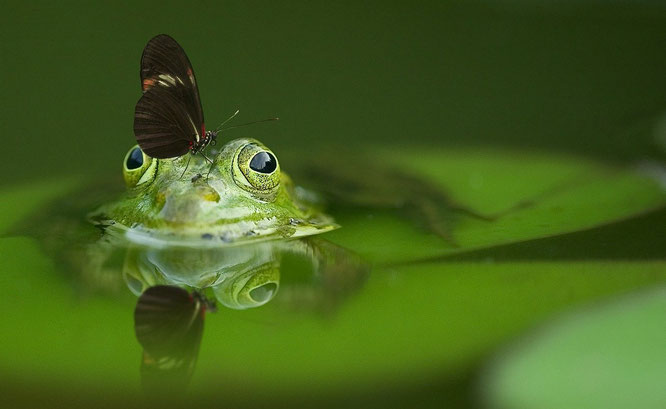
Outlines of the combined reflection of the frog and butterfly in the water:
{"label": "combined reflection of the frog and butterfly in the water", "polygon": [[318,238],[122,250],[122,277],[139,296],[134,324],[143,347],[142,384],[158,392],[184,388],[192,377],[205,312],[215,307],[204,294],[235,310],[275,300],[277,308],[329,314],[369,272],[356,255]]}

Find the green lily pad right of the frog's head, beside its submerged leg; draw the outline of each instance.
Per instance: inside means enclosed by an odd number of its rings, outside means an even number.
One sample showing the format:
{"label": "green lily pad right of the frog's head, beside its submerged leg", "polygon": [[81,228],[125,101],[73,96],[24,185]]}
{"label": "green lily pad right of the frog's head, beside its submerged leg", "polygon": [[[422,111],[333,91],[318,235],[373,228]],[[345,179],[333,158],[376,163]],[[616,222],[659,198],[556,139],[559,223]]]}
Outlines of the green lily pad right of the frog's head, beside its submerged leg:
{"label": "green lily pad right of the frog's head, beside its submerged leg", "polygon": [[385,160],[423,178],[456,203],[495,220],[460,215],[448,227],[455,245],[395,211],[336,215],[329,237],[384,263],[431,258],[553,236],[662,207],[666,192],[632,168],[583,158],[501,150],[387,153]]}

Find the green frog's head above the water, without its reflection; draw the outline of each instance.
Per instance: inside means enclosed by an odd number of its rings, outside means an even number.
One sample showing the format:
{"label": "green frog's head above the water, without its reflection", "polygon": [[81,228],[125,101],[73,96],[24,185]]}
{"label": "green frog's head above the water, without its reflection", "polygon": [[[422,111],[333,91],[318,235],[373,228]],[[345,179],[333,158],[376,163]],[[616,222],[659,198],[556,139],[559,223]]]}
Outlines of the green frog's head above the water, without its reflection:
{"label": "green frog's head above the water, without its reflection", "polygon": [[91,215],[148,245],[224,245],[303,237],[338,227],[295,188],[275,155],[242,138],[219,152],[153,159],[134,146],[125,156],[121,200]]}

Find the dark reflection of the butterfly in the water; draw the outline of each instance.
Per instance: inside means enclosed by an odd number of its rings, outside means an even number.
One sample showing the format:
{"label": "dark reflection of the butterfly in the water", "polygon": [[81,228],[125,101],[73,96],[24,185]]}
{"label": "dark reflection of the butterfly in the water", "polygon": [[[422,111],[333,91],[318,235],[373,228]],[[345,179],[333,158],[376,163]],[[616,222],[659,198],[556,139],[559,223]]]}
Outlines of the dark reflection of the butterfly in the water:
{"label": "dark reflection of the butterfly in the water", "polygon": [[147,391],[183,388],[194,373],[206,311],[215,304],[199,292],[150,287],[134,310],[134,331],[143,347],[141,383]]}

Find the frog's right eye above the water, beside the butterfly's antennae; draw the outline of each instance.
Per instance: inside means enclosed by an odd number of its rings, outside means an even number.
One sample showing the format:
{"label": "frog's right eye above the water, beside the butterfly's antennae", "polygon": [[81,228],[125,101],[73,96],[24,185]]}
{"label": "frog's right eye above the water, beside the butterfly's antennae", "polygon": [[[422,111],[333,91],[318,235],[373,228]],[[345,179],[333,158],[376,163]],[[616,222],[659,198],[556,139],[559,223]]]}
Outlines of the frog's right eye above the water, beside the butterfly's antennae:
{"label": "frog's right eye above the water, beside the butterfly's antennae", "polygon": [[259,143],[248,143],[234,162],[234,180],[238,186],[264,200],[275,198],[280,187],[280,164],[273,152]]}

